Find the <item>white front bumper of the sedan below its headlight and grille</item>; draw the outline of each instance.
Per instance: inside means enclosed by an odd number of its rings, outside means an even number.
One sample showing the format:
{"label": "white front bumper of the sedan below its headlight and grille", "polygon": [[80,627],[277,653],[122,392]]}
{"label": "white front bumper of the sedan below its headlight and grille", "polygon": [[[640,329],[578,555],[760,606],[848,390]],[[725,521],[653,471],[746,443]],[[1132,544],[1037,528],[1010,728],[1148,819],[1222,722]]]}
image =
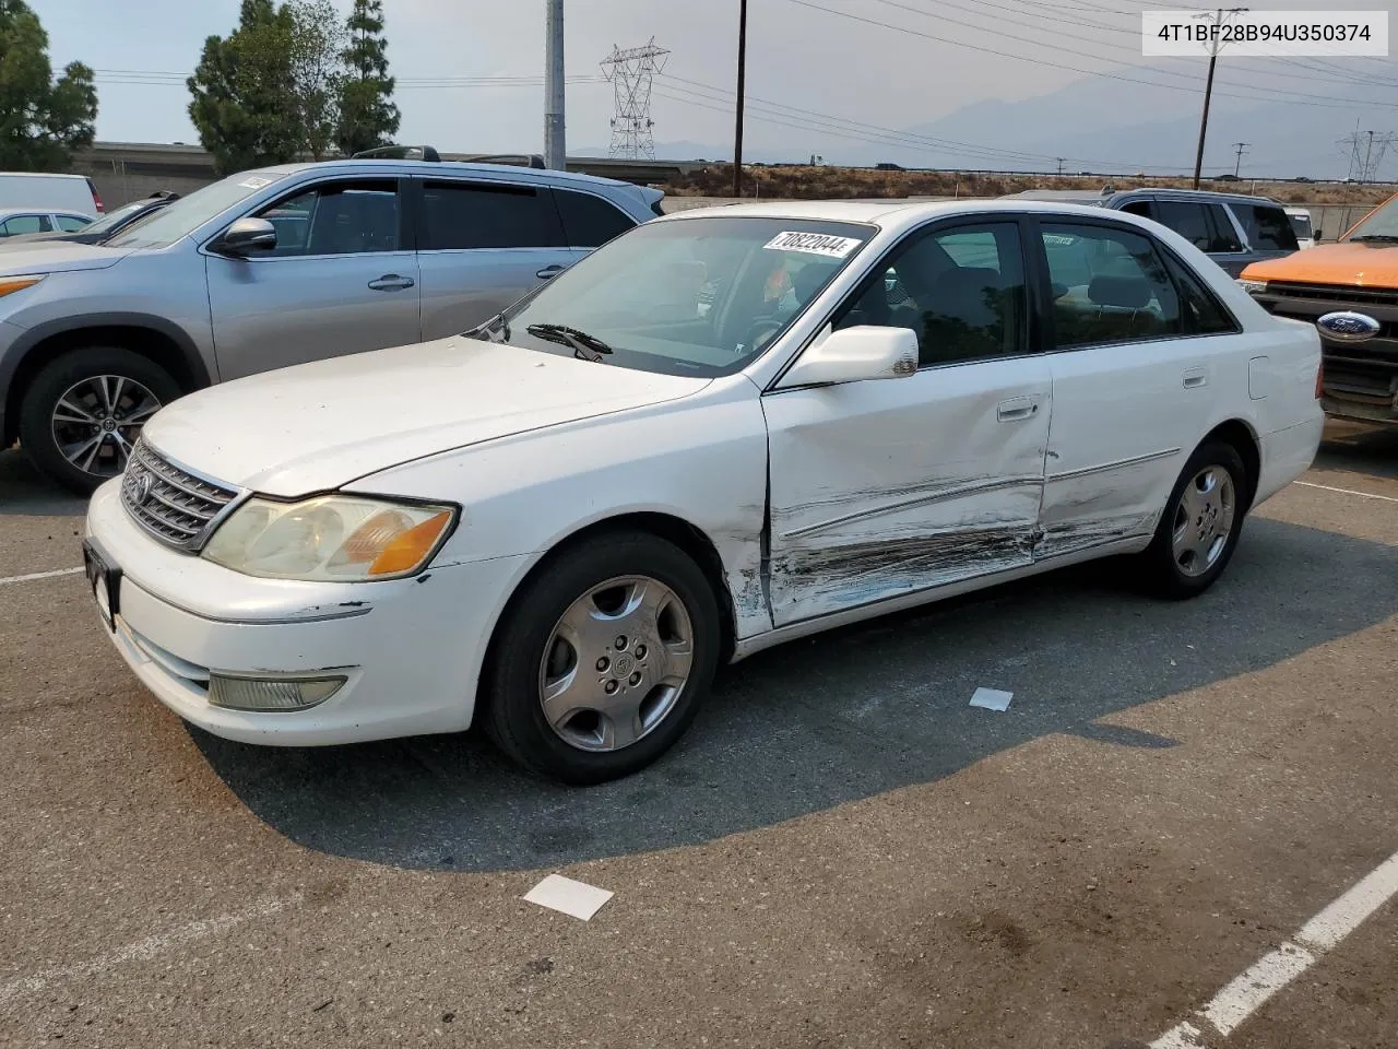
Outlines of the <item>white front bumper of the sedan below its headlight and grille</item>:
{"label": "white front bumper of the sedan below its headlight and grille", "polygon": [[[141,683],[215,736],[323,745],[460,732],[470,726],[481,662],[523,557],[382,583],[257,579],[164,547],[98,490],[87,534],[122,571],[115,629]],[[208,702],[208,673],[348,680],[298,711],[246,712]]]}

